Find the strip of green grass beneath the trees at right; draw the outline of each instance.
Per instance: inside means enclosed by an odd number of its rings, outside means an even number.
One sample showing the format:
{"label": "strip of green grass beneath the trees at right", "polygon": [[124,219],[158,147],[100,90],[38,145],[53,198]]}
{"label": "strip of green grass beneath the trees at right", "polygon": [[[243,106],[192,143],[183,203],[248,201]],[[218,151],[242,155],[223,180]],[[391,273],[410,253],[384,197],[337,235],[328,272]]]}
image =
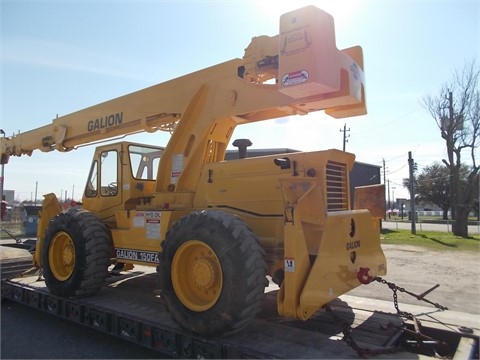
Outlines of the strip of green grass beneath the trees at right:
{"label": "strip of green grass beneath the trees at right", "polygon": [[382,244],[421,246],[431,250],[454,250],[480,253],[480,235],[468,238],[455,236],[451,233],[437,231],[422,231],[413,235],[409,230],[382,230]]}

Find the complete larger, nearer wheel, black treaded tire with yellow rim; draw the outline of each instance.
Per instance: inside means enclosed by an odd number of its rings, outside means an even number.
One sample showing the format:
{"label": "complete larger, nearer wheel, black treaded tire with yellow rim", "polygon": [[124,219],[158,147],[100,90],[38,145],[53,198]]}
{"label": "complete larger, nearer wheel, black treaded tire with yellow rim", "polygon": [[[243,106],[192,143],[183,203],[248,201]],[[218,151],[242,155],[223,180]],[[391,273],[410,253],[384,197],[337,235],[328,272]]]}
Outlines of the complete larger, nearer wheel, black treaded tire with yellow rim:
{"label": "complete larger, nearer wheel, black treaded tire with yellow rim", "polygon": [[261,310],[267,264],[242,220],[215,210],[191,213],[162,247],[161,294],[181,327],[202,336],[233,333]]}

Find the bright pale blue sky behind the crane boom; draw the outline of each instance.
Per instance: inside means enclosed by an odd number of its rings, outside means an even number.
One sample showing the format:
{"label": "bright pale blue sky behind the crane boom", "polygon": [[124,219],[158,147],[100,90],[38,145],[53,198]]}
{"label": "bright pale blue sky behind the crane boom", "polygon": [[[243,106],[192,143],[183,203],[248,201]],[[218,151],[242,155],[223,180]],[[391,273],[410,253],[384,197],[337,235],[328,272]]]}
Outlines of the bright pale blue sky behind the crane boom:
{"label": "bright pale blue sky behind the crane boom", "polygon": [[[253,148],[342,149],[382,166],[391,199],[409,197],[408,152],[421,170],[446,157],[423,105],[455,70],[480,61],[480,0],[2,0],[0,128],[7,136],[221,62],[254,36],[277,35],[280,15],[315,5],[335,19],[339,49],[364,52],[368,114],[323,112],[239,126]],[[167,133],[127,140],[166,145]],[[234,147],[229,144],[229,149]],[[11,157],[4,189],[18,200],[54,192],[80,200],[94,147]],[[383,166],[385,167],[383,168]]]}

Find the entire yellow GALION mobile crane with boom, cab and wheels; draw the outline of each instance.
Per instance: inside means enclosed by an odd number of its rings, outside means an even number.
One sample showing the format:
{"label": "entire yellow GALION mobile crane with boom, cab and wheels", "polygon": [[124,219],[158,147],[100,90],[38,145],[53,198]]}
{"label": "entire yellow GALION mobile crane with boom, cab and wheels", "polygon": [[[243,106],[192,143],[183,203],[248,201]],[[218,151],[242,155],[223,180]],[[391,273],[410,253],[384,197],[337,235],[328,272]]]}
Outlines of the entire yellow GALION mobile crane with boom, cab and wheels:
{"label": "entire yellow GALION mobile crane with boom, cab and wheels", "polygon": [[113,263],[156,266],[175,321],[216,335],[258,313],[267,276],[280,287],[279,314],[306,320],[385,274],[384,192],[361,189],[352,209],[353,154],[224,160],[237,125],[319,110],[366,114],[363,54],[338,50],[333,18],[309,6],[282,15],[277,36],[254,37],[242,59],[0,139],[5,164],[34,150],[171,132],[165,147],[97,147],[81,209],[62,211],[55,195],[45,196],[34,264],[49,290],[88,296]]}

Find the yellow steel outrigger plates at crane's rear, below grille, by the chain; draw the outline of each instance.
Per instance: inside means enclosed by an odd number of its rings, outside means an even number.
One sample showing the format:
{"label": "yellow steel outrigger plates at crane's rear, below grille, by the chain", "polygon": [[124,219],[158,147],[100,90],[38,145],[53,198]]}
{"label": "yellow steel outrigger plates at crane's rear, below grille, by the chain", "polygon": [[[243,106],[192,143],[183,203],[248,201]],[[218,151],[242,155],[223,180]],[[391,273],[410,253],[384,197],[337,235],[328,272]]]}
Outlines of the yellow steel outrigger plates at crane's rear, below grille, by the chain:
{"label": "yellow steel outrigger plates at crane's rear, below grille, by the chain", "polygon": [[[352,221],[356,227],[353,236]],[[301,221],[285,224],[285,261],[294,263],[285,272],[278,294],[279,313],[301,320],[361,285],[358,275],[362,268],[368,269],[372,277],[384,275],[387,270],[379,234],[368,210],[329,213],[323,231],[318,227],[313,230],[319,235],[313,264],[307,246],[299,241],[309,227],[315,225]]]}

